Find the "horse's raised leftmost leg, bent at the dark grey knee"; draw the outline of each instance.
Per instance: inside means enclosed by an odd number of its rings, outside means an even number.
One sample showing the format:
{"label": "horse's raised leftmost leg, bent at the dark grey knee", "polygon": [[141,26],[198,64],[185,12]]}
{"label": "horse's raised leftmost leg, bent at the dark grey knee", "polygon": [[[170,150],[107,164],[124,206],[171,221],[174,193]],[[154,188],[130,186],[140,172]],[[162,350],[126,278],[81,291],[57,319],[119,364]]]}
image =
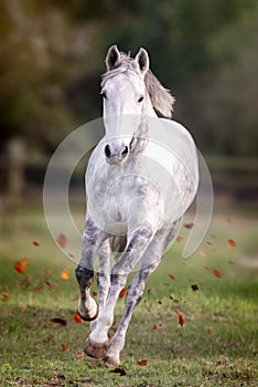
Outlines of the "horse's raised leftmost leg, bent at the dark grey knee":
{"label": "horse's raised leftmost leg, bent at the dark grey knee", "polygon": [[98,306],[90,296],[89,290],[94,280],[94,259],[107,236],[87,217],[83,233],[83,251],[75,275],[79,284],[80,297],[78,314],[85,321],[93,321],[98,315]]}

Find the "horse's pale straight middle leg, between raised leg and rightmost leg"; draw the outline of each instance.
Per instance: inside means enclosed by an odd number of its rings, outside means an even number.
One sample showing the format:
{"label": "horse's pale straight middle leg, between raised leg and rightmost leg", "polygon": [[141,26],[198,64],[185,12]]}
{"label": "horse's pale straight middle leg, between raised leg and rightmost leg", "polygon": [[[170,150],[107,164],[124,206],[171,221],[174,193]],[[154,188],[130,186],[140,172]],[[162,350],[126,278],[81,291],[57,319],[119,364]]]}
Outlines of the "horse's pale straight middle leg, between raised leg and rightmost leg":
{"label": "horse's pale straight middle leg, between raised leg and rightmost leg", "polygon": [[111,283],[107,302],[99,313],[94,331],[90,333],[85,345],[85,352],[93,357],[101,357],[107,351],[108,330],[114,322],[114,310],[121,289],[126,285],[128,274],[132,271],[138,260],[141,258],[151,238],[154,228],[149,223],[132,232],[126,251],[111,271]]}

